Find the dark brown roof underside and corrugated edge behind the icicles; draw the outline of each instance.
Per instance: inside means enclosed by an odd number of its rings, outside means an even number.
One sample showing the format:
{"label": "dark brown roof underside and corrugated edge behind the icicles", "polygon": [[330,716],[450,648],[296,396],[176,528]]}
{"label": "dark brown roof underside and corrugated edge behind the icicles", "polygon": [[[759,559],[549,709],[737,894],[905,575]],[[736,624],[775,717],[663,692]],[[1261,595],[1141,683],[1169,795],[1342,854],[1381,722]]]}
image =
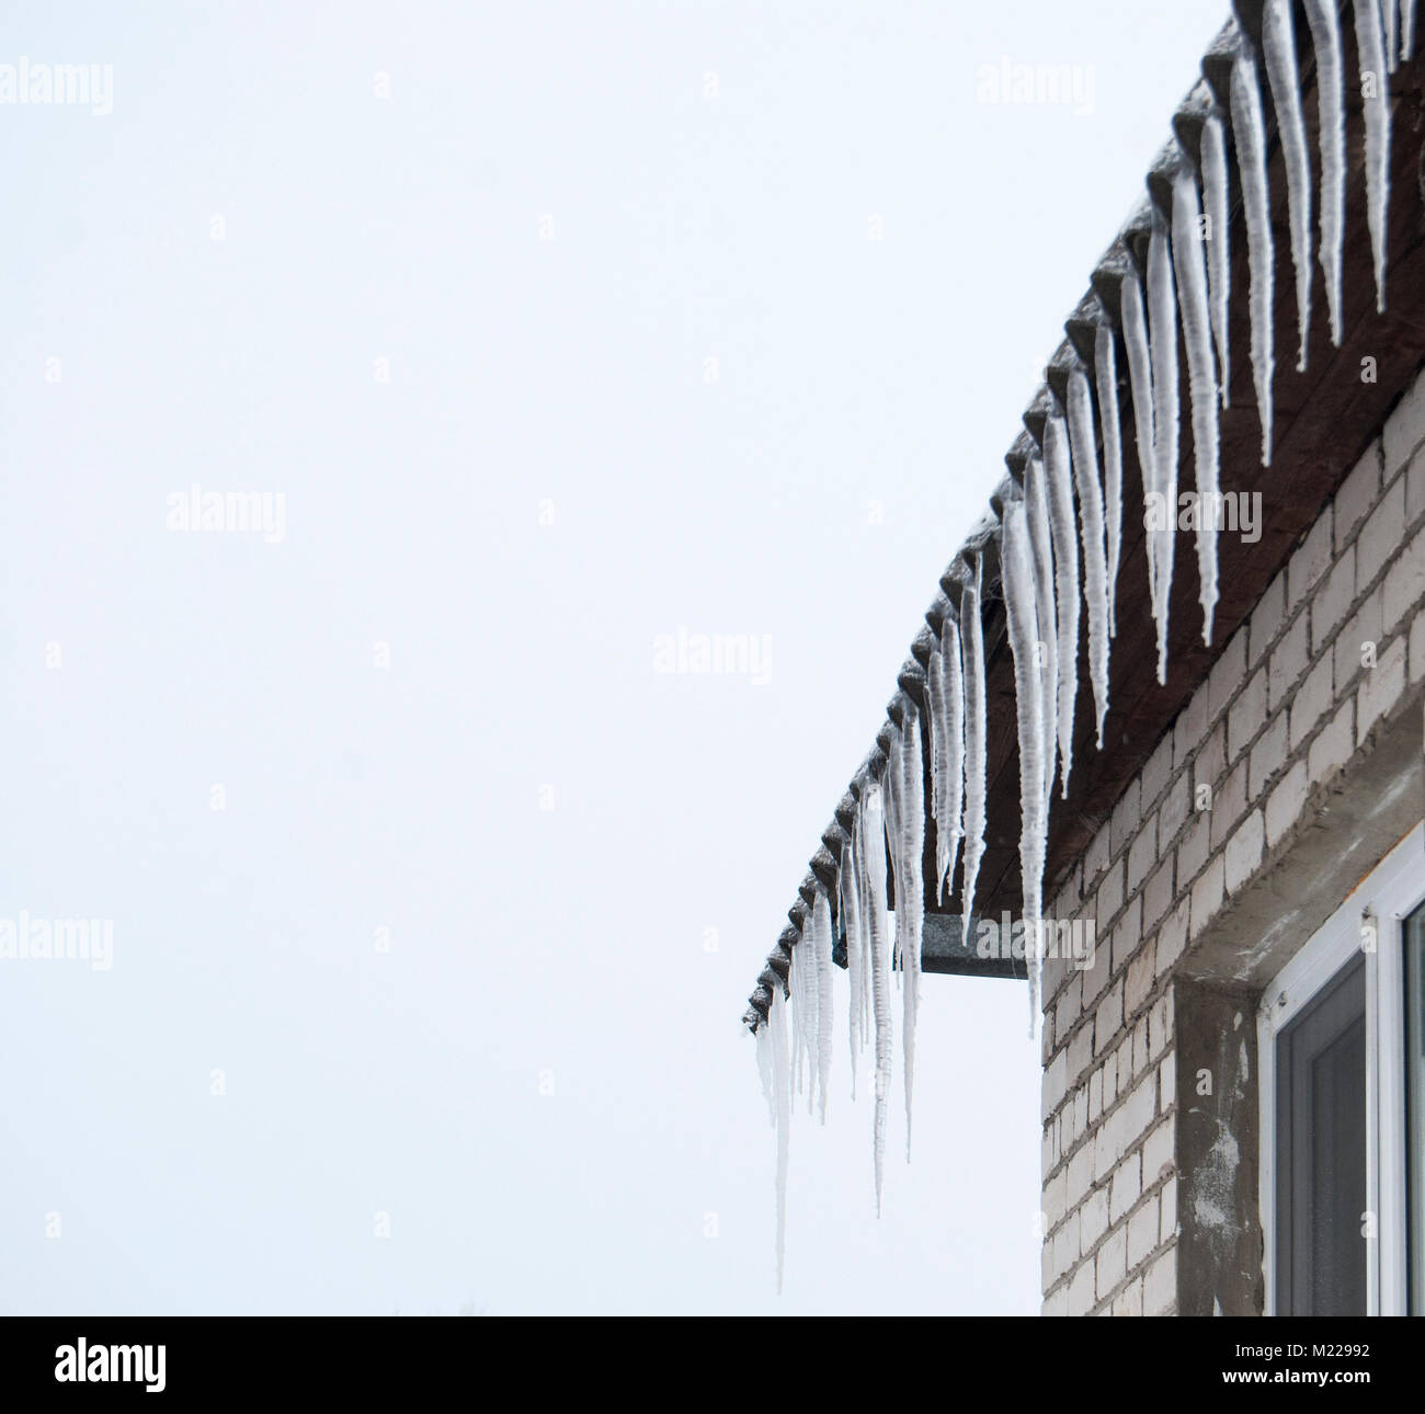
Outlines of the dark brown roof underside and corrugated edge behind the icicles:
{"label": "dark brown roof underside and corrugated edge behind the icicles", "polygon": [[[1235,6],[1241,29],[1260,38],[1261,0]],[[1305,20],[1297,7],[1297,51],[1301,64],[1302,108],[1307,121],[1307,144],[1312,167],[1312,191],[1320,191],[1318,107],[1315,63]],[[1342,23],[1342,68],[1347,76],[1359,73],[1354,27],[1349,10]],[[1203,73],[1211,93],[1198,86],[1173,117],[1173,128],[1181,150],[1191,160],[1197,155],[1204,101],[1216,97],[1226,110],[1226,87],[1230,50],[1240,44],[1235,26],[1224,29],[1207,57]],[[1069,338],[1046,369],[1047,391],[1025,415],[1032,433],[1020,435],[1006,456],[1010,478],[992,497],[999,515],[1009,496],[1017,496],[1016,485],[1023,469],[1023,458],[1037,452],[1047,411],[1062,403],[1069,368],[1076,356],[1092,366],[1094,322],[1106,316],[1114,328],[1119,368],[1119,416],[1123,428],[1123,546],[1116,586],[1117,636],[1110,656],[1110,710],[1104,726],[1104,745],[1094,740],[1093,697],[1087,690],[1086,634],[1079,644],[1079,694],[1073,731],[1073,771],[1067,800],[1059,798],[1056,788],[1049,821],[1047,857],[1045,868],[1045,898],[1050,899],[1062,887],[1076,860],[1107,821],[1124,788],[1141,768],[1147,755],[1161,740],[1206,678],[1211,664],[1233,637],[1255,604],[1263,590],[1277,574],[1304,532],[1315,522],[1337,486],[1351,470],[1371,438],[1379,429],[1394,402],[1408,386],[1411,376],[1425,362],[1425,207],[1422,207],[1422,127],[1425,127],[1425,61],[1419,46],[1416,56],[1402,63],[1389,78],[1391,105],[1391,187],[1388,212],[1388,275],[1387,311],[1377,312],[1371,247],[1367,237],[1365,211],[1365,123],[1358,86],[1345,86],[1347,124],[1347,198],[1345,198],[1345,257],[1342,264],[1341,345],[1332,346],[1327,321],[1325,278],[1318,259],[1312,259],[1311,278],[1311,341],[1308,363],[1298,372],[1297,363],[1297,306],[1291,274],[1288,201],[1285,164],[1278,140],[1270,98],[1264,94],[1268,120],[1268,184],[1271,227],[1275,248],[1275,281],[1273,312],[1277,363],[1274,376],[1275,436],[1273,460],[1263,466],[1261,428],[1253,371],[1248,359],[1250,321],[1247,291],[1247,237],[1241,215],[1241,194],[1233,167],[1233,218],[1230,338],[1231,383],[1228,406],[1221,413],[1221,490],[1261,495],[1261,537],[1245,543],[1240,536],[1224,533],[1218,537],[1218,602],[1211,647],[1201,637],[1201,609],[1198,607],[1198,576],[1190,536],[1177,536],[1176,567],[1170,602],[1167,681],[1157,681],[1156,626],[1149,611],[1147,554],[1141,516],[1134,507],[1143,505],[1143,478],[1137,462],[1133,402],[1129,396],[1127,361],[1119,331],[1119,282],[1126,261],[1141,272],[1146,265],[1150,212],[1144,204],[1114,239],[1104,259],[1092,277],[1092,292],[1066,324]],[[1168,197],[1170,177],[1160,160],[1149,174],[1151,201],[1160,207]],[[1312,211],[1315,222],[1317,212]],[[1318,234],[1314,231],[1314,242]],[[1181,334],[1180,334],[1181,339]],[[1374,361],[1375,381],[1362,376],[1365,361]],[[1187,366],[1186,349],[1180,342],[1178,366]],[[1180,418],[1181,445],[1178,460],[1180,487],[1194,485],[1193,428],[1187,415],[1187,385],[1183,386]],[[1102,448],[1100,448],[1102,456]],[[1015,669],[1006,640],[1005,606],[999,583],[998,526],[978,527],[968,546],[956,556],[940,580],[945,597],[959,603],[965,583],[965,560],[978,550],[983,574],[983,613],[986,653],[988,761],[986,761],[986,841],[976,889],[976,915],[999,918],[1007,911],[1019,914],[1022,884],[1019,869],[1019,745],[1016,730]],[[932,629],[939,627],[939,611],[932,606],[926,616]],[[919,700],[923,693],[923,669],[935,639],[922,630],[912,646],[912,659],[899,677],[901,691]],[[892,700],[891,714],[899,711]],[[884,737],[884,734],[882,734]],[[929,733],[922,733],[926,755],[926,798],[931,798]],[[849,797],[838,805],[842,825],[849,824]],[[795,945],[805,909],[818,884],[835,899],[835,877],[839,868],[836,825],[824,835],[824,847],[812,861],[812,872],[799,889],[799,898],[789,911],[791,927],[784,929],[768,959],[771,972],[785,981],[785,959]],[[1023,976],[1023,964],[998,959],[983,962],[959,938],[960,867],[956,867],[953,887],[946,887],[945,902],[935,897],[935,824],[926,820],[925,871],[928,918],[925,936],[926,972],[956,972],[970,975]],[[893,888],[893,881],[892,885]],[[943,921],[942,921],[943,919]],[[839,929],[838,929],[839,931]],[[838,942],[838,959],[844,961],[844,945]],[[765,989],[770,974],[760,979]],[[765,994],[765,995],[770,995]],[[754,994],[754,1011],[758,996]],[[755,1025],[754,1012],[748,1013]]]}

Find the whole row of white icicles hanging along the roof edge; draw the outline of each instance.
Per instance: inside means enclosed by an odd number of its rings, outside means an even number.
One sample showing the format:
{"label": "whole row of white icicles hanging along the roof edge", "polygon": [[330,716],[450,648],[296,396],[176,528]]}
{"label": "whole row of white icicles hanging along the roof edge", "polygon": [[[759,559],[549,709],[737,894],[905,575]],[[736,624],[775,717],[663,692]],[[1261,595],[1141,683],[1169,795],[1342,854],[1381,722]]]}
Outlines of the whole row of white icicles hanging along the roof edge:
{"label": "whole row of white icicles hanging along the roof edge", "polygon": [[[1375,272],[1377,309],[1385,309],[1385,220],[1389,171],[1389,107],[1384,74],[1395,56],[1414,51],[1412,0],[1354,0],[1357,48],[1365,105],[1367,227]],[[1341,342],[1341,259],[1345,211],[1345,77],[1341,20],[1332,0],[1305,0],[1317,61],[1321,154],[1320,261],[1325,274],[1331,341]],[[1273,275],[1274,249],[1267,182],[1267,135],[1263,83],[1277,114],[1287,172],[1288,229],[1295,271],[1300,352],[1307,362],[1311,325],[1312,190],[1305,118],[1297,66],[1290,0],[1268,0],[1263,44],[1257,54],[1240,40],[1226,114],[1214,110],[1201,130],[1201,171],[1194,175],[1186,154],[1171,184],[1171,211],[1151,210],[1146,282],[1129,265],[1120,287],[1120,325],[1127,354],[1134,440],[1143,469],[1149,602],[1157,626],[1157,677],[1167,673],[1168,597],[1173,582],[1178,470],[1178,318],[1187,351],[1193,420],[1196,492],[1200,506],[1214,506],[1218,492],[1218,409],[1227,406],[1228,150],[1230,127],[1243,194],[1248,258],[1250,358],[1261,423],[1261,462],[1271,460],[1273,442]],[[1374,81],[1372,81],[1374,80]],[[1226,121],[1224,121],[1226,120]],[[1206,222],[1203,221],[1206,208]],[[1089,677],[1094,700],[1097,744],[1109,711],[1109,644],[1116,633],[1114,596],[1123,527],[1123,460],[1119,425],[1119,373],[1114,332],[1100,322],[1093,365],[1069,373],[1063,408],[1046,420],[1039,453],[1023,469],[1020,499],[1005,503],[999,529],[1000,579],[1006,626],[1015,660],[1016,717],[1020,763],[1020,872],[1023,927],[1037,936],[1049,810],[1057,778],[1067,797],[1073,764],[1073,718],[1077,697],[1080,597],[1087,617]],[[1094,432],[1097,402],[1097,435]],[[1103,448],[1100,473],[1099,445]],[[1074,516],[1077,497],[1079,515]],[[1161,513],[1161,507],[1167,507]],[[1077,533],[1076,533],[1077,520]],[[1217,522],[1196,517],[1203,641],[1211,644],[1217,603]],[[906,1109],[906,1157],[911,1152],[911,1100],[915,1075],[915,1022],[919,1005],[922,911],[899,908],[892,915],[886,872],[898,899],[925,894],[922,852],[926,807],[936,822],[935,897],[945,899],[963,844],[962,924],[969,939],[980,860],[985,852],[985,646],[980,627],[980,556],[965,552],[972,576],[960,603],[949,606],[929,654],[923,708],[899,698],[901,721],[889,724],[885,761],[874,757],[852,783],[855,812],[836,871],[834,897],[819,884],[801,924],[785,971],[764,972],[744,1018],[757,1035],[757,1059],[777,1130],[777,1284],[781,1290],[785,1253],[788,1126],[794,1092],[805,1092],[808,1110],[826,1113],[832,1053],[832,946],[836,919],[845,934],[851,989],[851,1093],[856,1062],[874,1036],[874,1163],[876,1212],[881,1212],[885,1167],[886,1102],[891,1088],[892,991],[899,981],[902,1002],[902,1068]],[[1080,562],[1082,557],[1082,562]],[[1082,576],[1080,576],[1082,567]],[[1080,589],[1082,583],[1082,589]],[[932,798],[922,774],[922,716],[931,737]],[[889,851],[889,861],[886,854]],[[835,914],[835,919],[834,919]],[[895,927],[892,927],[895,924]],[[795,922],[794,922],[795,928]],[[1040,958],[1026,949],[1030,1035],[1039,1016]],[[775,955],[774,955],[775,959]]]}

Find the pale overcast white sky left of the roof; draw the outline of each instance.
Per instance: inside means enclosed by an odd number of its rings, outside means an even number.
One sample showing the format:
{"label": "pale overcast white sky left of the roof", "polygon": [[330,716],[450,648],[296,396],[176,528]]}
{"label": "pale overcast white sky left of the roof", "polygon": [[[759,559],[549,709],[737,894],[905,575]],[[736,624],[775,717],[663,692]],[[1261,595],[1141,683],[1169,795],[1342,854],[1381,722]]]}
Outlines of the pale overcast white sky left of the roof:
{"label": "pale overcast white sky left of the roof", "polygon": [[1037,1310],[1020,986],[779,1299],[737,1019],[1226,0],[7,9],[0,1311]]}

